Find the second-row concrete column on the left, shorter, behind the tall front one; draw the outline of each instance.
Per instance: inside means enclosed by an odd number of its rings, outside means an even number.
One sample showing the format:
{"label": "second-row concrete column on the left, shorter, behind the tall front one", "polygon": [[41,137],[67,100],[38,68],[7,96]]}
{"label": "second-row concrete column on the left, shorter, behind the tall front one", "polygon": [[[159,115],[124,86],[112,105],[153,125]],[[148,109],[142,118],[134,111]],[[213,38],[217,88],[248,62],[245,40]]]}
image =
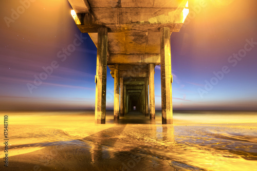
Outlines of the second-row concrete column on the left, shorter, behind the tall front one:
{"label": "second-row concrete column on the left, shorter, behind the tall front one", "polygon": [[120,119],[119,64],[114,68],[114,120]]}

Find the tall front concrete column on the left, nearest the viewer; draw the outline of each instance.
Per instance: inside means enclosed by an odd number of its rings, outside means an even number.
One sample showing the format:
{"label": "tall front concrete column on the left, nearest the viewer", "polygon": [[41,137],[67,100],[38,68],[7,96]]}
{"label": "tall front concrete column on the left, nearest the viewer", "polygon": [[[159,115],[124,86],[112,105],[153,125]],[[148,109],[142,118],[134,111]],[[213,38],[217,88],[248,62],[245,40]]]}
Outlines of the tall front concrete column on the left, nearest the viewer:
{"label": "tall front concrete column on the left, nearest the viewer", "polygon": [[105,124],[106,112],[106,67],[107,67],[107,28],[98,28],[96,104],[95,122]]}

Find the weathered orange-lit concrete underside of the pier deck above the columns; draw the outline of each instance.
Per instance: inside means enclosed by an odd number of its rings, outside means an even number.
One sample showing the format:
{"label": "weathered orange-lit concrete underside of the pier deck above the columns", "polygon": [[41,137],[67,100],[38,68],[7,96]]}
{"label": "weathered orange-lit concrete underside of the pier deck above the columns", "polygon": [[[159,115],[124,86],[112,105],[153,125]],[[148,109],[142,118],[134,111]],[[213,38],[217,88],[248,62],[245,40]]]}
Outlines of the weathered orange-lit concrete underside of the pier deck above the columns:
{"label": "weathered orange-lit concrete underside of the pier deck above the columns", "polygon": [[[81,32],[97,46],[97,28],[108,28],[108,65],[160,64],[160,28],[177,32],[182,27],[187,0],[69,0],[80,14]],[[87,5],[88,4],[88,5]]]}

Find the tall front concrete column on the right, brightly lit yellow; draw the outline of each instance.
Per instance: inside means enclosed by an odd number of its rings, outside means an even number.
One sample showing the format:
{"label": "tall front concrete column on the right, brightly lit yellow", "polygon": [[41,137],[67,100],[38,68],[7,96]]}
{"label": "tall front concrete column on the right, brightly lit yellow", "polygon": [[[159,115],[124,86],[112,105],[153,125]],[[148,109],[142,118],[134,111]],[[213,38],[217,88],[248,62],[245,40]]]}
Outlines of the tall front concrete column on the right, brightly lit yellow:
{"label": "tall front concrete column on the right, brightly lit yellow", "polygon": [[161,115],[162,124],[172,124],[172,91],[171,91],[171,33],[169,27],[160,29],[161,61]]}

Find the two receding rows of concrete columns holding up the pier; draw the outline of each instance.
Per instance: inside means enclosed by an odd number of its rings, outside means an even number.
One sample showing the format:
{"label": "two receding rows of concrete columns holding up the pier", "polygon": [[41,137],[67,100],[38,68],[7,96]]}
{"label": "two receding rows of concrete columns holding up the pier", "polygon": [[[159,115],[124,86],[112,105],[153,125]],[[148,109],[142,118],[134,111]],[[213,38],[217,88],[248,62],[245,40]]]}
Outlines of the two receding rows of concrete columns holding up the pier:
{"label": "two receding rows of concrete columns holding up the pier", "polygon": [[[171,49],[170,49],[170,28],[160,29],[160,61],[161,61],[161,108],[162,124],[172,124],[172,74],[171,74]],[[105,123],[106,112],[106,69],[107,69],[107,28],[98,28],[97,44],[97,72],[96,72],[96,123]],[[154,95],[154,64],[148,64],[149,77],[144,78],[144,85],[139,94],[137,106],[140,111],[155,119],[155,95]],[[148,88],[149,85],[149,88]],[[148,91],[149,90],[149,91]],[[120,92],[119,92],[120,91]],[[148,98],[149,97],[149,98]],[[114,69],[114,120],[124,116],[132,110],[132,96],[128,93],[127,85],[123,85],[123,78],[119,76],[119,64]],[[148,100],[149,99],[149,100]],[[120,103],[119,103],[120,101]]]}

